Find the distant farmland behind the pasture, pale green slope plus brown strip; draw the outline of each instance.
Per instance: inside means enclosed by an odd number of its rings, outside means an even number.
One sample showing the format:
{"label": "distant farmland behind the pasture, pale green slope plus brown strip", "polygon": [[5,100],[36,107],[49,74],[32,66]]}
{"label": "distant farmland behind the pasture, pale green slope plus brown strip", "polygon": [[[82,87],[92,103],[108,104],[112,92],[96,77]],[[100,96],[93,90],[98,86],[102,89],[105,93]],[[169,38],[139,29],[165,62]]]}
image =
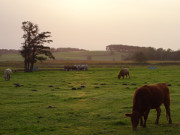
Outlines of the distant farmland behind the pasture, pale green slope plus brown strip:
{"label": "distant farmland behind the pasture, pale green slope plus brown strip", "polygon": [[[137,63],[135,61],[123,60],[127,54],[115,52],[110,55],[107,51],[82,51],[82,52],[58,52],[54,53],[55,60],[47,60],[35,63],[39,69],[58,68],[62,69],[64,65],[88,64],[90,67],[131,67],[132,65],[180,65],[180,61],[147,61],[146,63]],[[91,56],[91,60],[87,60]],[[23,68],[23,58],[19,54],[4,54],[0,56],[0,68]]]}

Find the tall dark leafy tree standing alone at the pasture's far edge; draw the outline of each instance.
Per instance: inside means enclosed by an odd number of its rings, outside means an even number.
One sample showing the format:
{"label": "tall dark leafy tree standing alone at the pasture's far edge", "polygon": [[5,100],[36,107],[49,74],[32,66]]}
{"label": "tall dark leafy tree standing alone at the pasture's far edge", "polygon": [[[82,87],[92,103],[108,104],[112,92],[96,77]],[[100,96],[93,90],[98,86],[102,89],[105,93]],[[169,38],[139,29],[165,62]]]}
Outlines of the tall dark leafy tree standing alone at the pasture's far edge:
{"label": "tall dark leafy tree standing alone at the pasture's far edge", "polygon": [[24,71],[32,72],[34,63],[37,61],[44,61],[49,57],[55,59],[50,52],[50,47],[44,46],[45,43],[51,43],[52,40],[47,40],[51,37],[50,32],[39,33],[38,25],[32,22],[22,22],[22,30],[24,31],[24,43],[22,43],[22,50],[20,51],[24,58]]}

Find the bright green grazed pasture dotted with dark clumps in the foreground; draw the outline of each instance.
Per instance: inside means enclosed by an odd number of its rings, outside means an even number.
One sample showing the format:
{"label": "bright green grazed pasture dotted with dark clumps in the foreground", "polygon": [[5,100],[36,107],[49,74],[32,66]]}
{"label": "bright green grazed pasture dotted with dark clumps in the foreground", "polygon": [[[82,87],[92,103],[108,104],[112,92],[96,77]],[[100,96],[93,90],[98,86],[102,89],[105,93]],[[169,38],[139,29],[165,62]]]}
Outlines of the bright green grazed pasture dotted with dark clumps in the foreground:
{"label": "bright green grazed pasture dotted with dark clumps in the foreground", "polygon": [[[179,135],[180,66],[129,67],[131,79],[118,80],[119,68],[88,71],[0,72],[0,135]],[[169,125],[164,106],[159,125],[151,110],[147,128],[131,130],[125,113],[137,87],[167,83],[171,94]],[[76,89],[76,90],[73,90]]]}

